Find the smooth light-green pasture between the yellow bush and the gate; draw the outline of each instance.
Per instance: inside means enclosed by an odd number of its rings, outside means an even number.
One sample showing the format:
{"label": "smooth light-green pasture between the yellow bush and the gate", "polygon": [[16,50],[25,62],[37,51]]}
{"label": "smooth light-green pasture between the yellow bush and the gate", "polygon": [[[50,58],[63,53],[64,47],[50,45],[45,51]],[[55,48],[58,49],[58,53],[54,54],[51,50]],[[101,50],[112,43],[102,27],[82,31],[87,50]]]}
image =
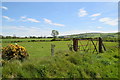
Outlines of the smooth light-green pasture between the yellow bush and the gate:
{"label": "smooth light-green pasture between the yellow bush and the gate", "polygon": [[[68,50],[68,43],[71,43],[71,41],[22,42],[18,43],[18,45],[25,47],[30,57],[43,57],[51,55],[51,44],[55,44],[55,52],[57,52],[59,50]],[[5,47],[8,44],[10,43],[2,43],[2,46]]]}

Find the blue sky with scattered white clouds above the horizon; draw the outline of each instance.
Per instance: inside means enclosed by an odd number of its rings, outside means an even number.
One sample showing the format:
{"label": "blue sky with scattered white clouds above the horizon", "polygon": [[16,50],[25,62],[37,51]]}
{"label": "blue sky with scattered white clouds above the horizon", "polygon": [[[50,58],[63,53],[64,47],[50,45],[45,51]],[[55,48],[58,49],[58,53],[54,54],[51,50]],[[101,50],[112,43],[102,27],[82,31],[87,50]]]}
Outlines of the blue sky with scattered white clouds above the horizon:
{"label": "blue sky with scattered white clouds above the horizon", "polygon": [[2,35],[118,32],[117,2],[3,2]]}

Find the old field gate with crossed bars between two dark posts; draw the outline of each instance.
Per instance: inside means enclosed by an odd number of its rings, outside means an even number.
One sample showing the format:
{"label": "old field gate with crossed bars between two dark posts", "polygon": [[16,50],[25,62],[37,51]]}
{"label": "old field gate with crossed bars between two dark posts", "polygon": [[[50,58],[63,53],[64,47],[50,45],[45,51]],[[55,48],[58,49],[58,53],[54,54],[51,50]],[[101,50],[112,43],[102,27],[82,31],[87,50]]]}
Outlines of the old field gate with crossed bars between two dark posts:
{"label": "old field gate with crossed bars between two dark posts", "polygon": [[[82,42],[83,41],[83,42]],[[97,52],[102,53],[106,51],[103,44],[102,38],[83,38],[83,39],[73,39],[73,50],[74,51],[84,51],[84,52]]]}

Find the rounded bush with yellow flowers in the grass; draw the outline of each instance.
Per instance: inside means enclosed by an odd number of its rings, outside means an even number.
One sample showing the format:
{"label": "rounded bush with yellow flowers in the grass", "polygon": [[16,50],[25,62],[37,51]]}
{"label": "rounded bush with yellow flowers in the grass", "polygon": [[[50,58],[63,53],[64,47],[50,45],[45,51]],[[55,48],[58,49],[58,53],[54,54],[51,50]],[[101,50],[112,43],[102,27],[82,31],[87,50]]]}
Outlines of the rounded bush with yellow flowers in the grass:
{"label": "rounded bush with yellow flowers in the grass", "polygon": [[23,60],[27,58],[28,53],[26,49],[20,45],[10,44],[2,48],[2,58],[4,60],[18,59]]}

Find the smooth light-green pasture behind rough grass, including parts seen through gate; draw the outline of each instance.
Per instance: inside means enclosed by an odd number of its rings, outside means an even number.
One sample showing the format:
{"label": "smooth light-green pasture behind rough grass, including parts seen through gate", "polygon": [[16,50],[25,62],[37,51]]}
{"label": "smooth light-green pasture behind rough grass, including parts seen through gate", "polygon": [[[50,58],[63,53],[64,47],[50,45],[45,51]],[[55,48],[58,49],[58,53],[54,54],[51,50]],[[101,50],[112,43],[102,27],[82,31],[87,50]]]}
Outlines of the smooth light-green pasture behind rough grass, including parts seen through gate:
{"label": "smooth light-green pasture behind rough grass, including parts seen through gate", "polygon": [[[9,39],[8,39],[9,40]],[[10,39],[10,40],[18,40],[18,39]],[[31,39],[23,39],[23,40],[31,40]],[[34,40],[34,39],[33,39]],[[6,39],[3,41],[6,41]],[[79,45],[87,45],[89,43],[88,47],[82,46],[80,47],[80,50],[83,50],[84,48],[91,48],[94,49],[94,46],[92,45],[91,41],[79,41]],[[94,41],[94,43],[98,44],[97,41]],[[9,44],[14,43],[2,43],[2,46],[5,47]],[[59,51],[68,51],[68,44],[72,44],[72,41],[51,41],[51,42],[20,42],[18,45],[21,45],[25,47],[30,55],[30,57],[43,57],[43,56],[50,56],[51,55],[51,44],[55,45],[55,52]],[[104,42],[105,47],[108,48],[114,48],[115,46],[118,46],[117,42]],[[96,46],[98,48],[98,45]],[[93,52],[93,50],[91,50]],[[90,52],[90,53],[91,53]]]}

